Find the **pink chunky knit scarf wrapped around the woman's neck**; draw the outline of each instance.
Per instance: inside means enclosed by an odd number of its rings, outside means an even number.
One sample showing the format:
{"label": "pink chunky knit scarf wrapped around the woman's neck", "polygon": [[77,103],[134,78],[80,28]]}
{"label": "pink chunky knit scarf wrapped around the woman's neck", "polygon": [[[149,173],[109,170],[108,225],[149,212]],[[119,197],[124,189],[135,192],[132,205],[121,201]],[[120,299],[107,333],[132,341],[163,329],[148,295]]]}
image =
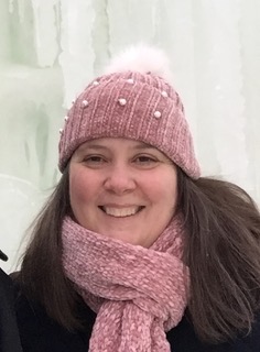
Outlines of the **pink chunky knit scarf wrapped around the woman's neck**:
{"label": "pink chunky knit scarf wrapped around the woman's neck", "polygon": [[89,352],[169,352],[165,331],[183,317],[188,270],[175,217],[150,249],[86,230],[65,218],[63,265],[97,312]]}

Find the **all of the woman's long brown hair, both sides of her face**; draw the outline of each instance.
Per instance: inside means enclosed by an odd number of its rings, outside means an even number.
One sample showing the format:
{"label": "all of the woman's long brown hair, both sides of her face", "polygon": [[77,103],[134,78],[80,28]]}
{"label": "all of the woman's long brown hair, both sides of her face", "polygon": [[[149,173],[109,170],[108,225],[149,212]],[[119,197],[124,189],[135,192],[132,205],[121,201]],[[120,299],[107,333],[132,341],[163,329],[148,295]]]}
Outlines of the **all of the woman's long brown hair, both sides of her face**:
{"label": "all of the woman's long brown hair, both sides of her face", "polygon": [[[249,332],[260,305],[260,213],[238,186],[193,180],[178,169],[184,261],[191,270],[188,316],[201,340],[217,343]],[[61,227],[71,212],[68,170],[36,218],[19,279],[31,299],[65,328],[80,327],[78,296],[62,267]]]}

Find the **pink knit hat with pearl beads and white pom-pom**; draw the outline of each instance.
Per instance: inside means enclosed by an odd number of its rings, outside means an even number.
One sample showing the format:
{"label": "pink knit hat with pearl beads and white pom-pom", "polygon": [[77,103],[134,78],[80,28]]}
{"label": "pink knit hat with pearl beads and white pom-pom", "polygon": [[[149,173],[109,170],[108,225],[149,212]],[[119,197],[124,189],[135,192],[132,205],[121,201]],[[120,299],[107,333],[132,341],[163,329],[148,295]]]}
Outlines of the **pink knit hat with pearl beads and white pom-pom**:
{"label": "pink knit hat with pearl beads and white pom-pom", "polygon": [[82,143],[99,138],[126,138],[155,146],[189,177],[199,177],[182,101],[162,78],[164,65],[166,57],[156,48],[130,48],[115,59],[111,73],[86,87],[61,131],[61,172]]}

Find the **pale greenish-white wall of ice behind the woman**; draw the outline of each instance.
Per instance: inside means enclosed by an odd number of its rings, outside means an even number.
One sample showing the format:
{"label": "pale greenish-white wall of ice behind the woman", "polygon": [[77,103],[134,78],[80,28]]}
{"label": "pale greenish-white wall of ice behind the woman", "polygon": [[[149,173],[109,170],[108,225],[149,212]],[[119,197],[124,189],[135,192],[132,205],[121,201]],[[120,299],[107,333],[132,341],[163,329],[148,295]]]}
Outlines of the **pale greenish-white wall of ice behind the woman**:
{"label": "pale greenish-white wall of ice behind the woman", "polygon": [[0,0],[1,266],[59,178],[71,101],[129,44],[167,52],[203,174],[260,202],[259,33],[258,0]]}

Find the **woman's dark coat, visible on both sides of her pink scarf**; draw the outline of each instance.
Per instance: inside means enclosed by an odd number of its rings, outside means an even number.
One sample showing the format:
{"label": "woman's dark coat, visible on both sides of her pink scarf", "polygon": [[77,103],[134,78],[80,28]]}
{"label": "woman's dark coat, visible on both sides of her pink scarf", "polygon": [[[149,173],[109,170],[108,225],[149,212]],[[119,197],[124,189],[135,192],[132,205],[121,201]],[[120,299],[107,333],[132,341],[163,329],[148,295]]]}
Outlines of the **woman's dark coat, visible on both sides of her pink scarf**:
{"label": "woman's dark coat, visible on both sides of her pink scarf", "polygon": [[[15,309],[24,352],[88,351],[96,315],[83,301],[78,306],[78,315],[85,321],[85,329],[76,332],[65,330],[50,319],[41,306],[29,302],[20,293]],[[231,342],[218,345],[202,343],[185,317],[176,328],[167,332],[167,340],[173,352],[260,352],[260,316],[250,336]]]}

